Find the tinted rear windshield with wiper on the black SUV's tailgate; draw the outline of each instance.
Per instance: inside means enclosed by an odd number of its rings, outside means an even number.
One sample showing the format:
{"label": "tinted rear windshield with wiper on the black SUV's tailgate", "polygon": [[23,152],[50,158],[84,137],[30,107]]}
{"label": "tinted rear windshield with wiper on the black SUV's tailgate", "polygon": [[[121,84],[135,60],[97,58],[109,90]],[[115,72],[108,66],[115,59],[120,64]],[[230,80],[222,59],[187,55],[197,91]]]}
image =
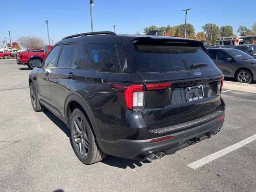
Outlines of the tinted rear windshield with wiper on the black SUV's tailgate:
{"label": "tinted rear windshield with wiper on the black SUV's tailgate", "polygon": [[[190,70],[192,64],[206,63],[200,69],[216,68],[200,47],[126,44],[137,73]],[[196,69],[196,68],[193,68]]]}

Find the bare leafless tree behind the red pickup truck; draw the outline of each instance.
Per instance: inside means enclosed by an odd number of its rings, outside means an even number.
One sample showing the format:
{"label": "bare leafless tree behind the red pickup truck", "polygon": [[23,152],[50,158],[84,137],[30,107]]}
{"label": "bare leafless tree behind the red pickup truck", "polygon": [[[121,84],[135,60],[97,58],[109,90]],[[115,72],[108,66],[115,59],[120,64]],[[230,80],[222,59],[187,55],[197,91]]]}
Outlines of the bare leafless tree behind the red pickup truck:
{"label": "bare leafless tree behind the red pickup truck", "polygon": [[26,49],[44,46],[44,41],[42,40],[42,38],[33,36],[19,37],[18,43]]}

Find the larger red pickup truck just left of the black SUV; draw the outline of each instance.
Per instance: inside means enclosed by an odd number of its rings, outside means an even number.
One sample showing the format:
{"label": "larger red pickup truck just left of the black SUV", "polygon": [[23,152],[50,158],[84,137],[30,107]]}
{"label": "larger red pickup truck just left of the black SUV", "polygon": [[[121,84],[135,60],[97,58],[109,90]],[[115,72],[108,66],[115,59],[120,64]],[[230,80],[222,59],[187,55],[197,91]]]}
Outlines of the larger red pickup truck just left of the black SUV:
{"label": "larger red pickup truck just left of the black SUV", "polygon": [[[40,52],[40,50],[36,49],[33,52],[22,52],[17,55],[16,62],[17,64],[24,64],[27,65],[29,68],[33,69],[30,66],[30,62],[34,59],[40,59],[42,62],[46,57],[47,53],[51,50],[52,45],[44,46],[44,51]],[[29,50],[28,50],[29,51]],[[32,51],[30,49],[30,51]]]}

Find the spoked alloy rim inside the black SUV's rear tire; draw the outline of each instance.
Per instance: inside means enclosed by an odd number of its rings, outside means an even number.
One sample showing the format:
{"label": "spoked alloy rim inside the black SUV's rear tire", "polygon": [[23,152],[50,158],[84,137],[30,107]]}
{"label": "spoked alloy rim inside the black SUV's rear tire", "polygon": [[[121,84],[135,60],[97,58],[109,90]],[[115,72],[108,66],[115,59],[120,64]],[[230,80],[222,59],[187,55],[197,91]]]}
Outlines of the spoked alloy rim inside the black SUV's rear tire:
{"label": "spoked alloy rim inside the black SUV's rear tire", "polygon": [[80,156],[84,158],[89,150],[89,140],[84,120],[79,115],[76,115],[73,124],[72,137],[74,138],[75,148]]}

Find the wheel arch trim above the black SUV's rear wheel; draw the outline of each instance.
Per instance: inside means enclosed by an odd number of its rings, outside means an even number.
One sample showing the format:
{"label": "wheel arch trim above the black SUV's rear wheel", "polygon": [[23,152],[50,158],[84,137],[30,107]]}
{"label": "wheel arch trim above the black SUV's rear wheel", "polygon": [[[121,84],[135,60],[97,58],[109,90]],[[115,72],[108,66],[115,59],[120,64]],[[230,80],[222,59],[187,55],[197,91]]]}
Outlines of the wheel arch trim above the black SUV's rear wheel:
{"label": "wheel arch trim above the black SUV's rear wheel", "polygon": [[[82,108],[86,112],[86,115],[87,115],[90,123],[92,124],[92,128],[94,130],[94,133],[95,133],[96,137],[101,138],[100,137],[100,132],[99,132],[98,127],[96,125],[93,113],[90,110],[90,107],[88,106],[88,104],[86,103],[84,98],[82,98],[82,96],[80,96],[80,94],[78,94],[76,92],[72,92],[72,94],[70,94],[68,96],[68,98],[66,99],[65,105],[64,105],[64,117],[67,119],[67,121],[69,121],[69,119],[70,119],[70,116],[69,116],[69,104],[72,101],[78,102],[82,106]],[[68,125],[68,127],[70,128],[70,125]]]}

